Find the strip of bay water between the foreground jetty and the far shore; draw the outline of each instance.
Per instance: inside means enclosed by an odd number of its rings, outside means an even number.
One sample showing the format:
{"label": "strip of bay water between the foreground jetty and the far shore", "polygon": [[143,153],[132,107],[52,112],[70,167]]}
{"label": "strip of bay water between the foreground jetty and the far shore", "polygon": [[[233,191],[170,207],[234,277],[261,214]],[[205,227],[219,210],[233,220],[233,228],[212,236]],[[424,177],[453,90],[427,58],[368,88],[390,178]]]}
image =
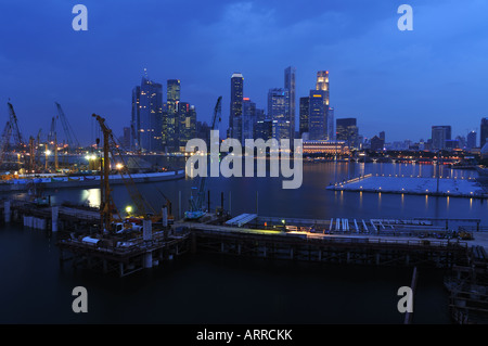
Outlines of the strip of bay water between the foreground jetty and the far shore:
{"label": "strip of bay water between the foreground jetty and the far shore", "polygon": [[[335,217],[354,218],[480,218],[488,225],[488,203],[461,197],[434,197],[425,195],[391,195],[371,192],[331,191],[325,188],[335,181],[346,180],[348,176],[376,175],[385,176],[400,172],[404,177],[433,176],[433,165],[399,165],[384,163],[304,163],[303,185],[296,190],[283,190],[282,178],[209,178],[210,210],[221,204],[224,197],[226,209],[232,215],[254,213],[256,209],[256,192],[259,191],[259,214],[262,216],[319,218]],[[441,167],[448,169],[447,167]],[[450,168],[449,168],[450,169]],[[446,170],[448,171],[448,170]],[[475,177],[471,170],[458,170],[452,174],[458,179]],[[168,196],[172,203],[175,216],[188,210],[192,188],[197,180],[180,179],[158,183],[141,183],[138,190],[155,210],[160,210]],[[114,185],[112,195],[119,209],[130,202],[130,194],[124,184]],[[194,191],[194,190],[193,190]],[[84,203],[99,206],[101,194],[99,189],[66,189],[46,191],[52,194],[52,202]],[[17,193],[17,196],[25,193]],[[446,201],[446,202],[444,202]],[[207,206],[205,201],[205,207]],[[377,204],[377,205],[376,205]],[[486,205],[486,206],[485,206]]]}

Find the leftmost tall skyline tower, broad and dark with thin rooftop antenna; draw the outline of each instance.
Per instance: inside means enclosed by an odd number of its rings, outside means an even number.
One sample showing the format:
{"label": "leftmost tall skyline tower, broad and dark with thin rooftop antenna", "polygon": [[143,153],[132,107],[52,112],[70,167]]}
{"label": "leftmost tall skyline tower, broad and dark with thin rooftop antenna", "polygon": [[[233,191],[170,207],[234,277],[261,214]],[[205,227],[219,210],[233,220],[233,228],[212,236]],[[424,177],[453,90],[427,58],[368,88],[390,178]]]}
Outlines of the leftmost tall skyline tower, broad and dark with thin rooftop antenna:
{"label": "leftmost tall skyline tower, broad and dark with thin rooftop antenna", "polygon": [[[139,93],[138,93],[139,91]],[[132,92],[132,104],[139,99],[139,146],[142,151],[162,150],[163,86],[142,77],[141,87]]]}

